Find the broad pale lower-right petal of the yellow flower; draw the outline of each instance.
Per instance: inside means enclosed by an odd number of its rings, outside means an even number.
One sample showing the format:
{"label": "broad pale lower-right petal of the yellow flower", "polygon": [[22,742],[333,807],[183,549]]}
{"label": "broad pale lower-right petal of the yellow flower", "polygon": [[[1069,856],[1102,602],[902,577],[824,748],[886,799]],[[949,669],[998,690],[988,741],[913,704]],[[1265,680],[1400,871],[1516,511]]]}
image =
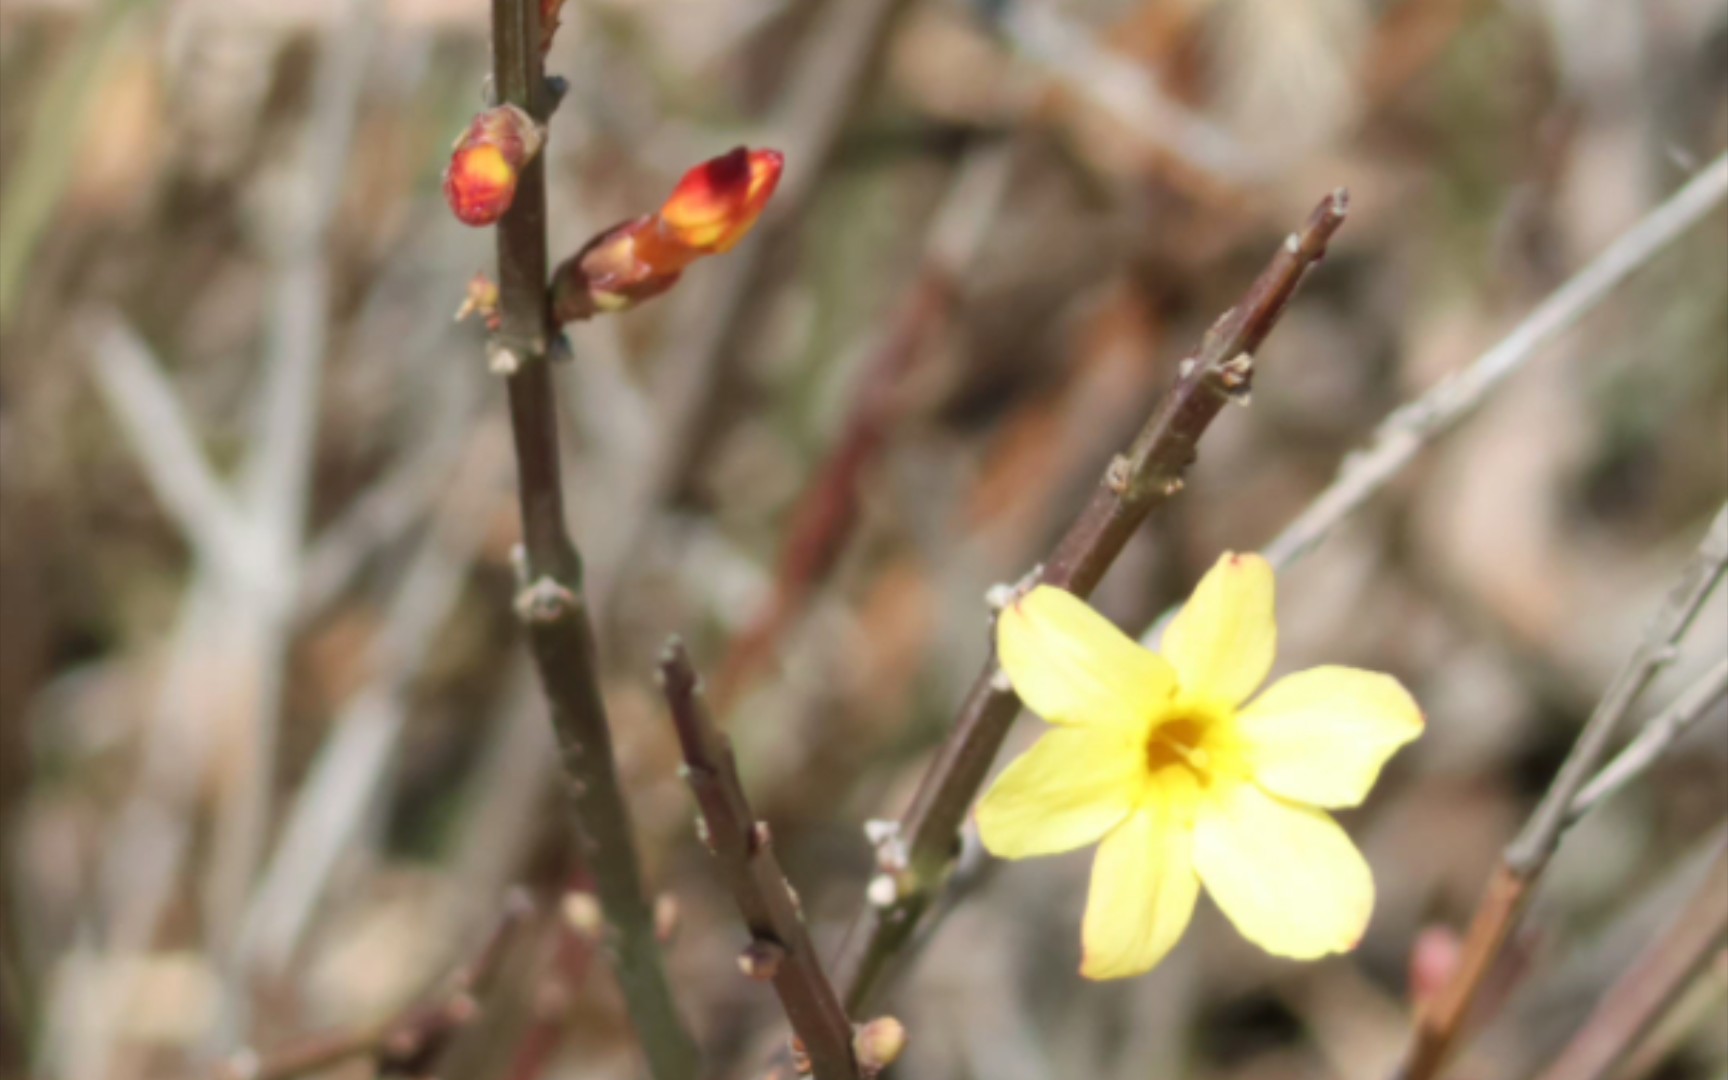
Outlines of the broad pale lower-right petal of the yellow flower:
{"label": "broad pale lower-right petal of the yellow flower", "polygon": [[1201,809],[1194,867],[1242,937],[1274,956],[1348,952],[1374,911],[1374,878],[1344,829],[1253,783]]}

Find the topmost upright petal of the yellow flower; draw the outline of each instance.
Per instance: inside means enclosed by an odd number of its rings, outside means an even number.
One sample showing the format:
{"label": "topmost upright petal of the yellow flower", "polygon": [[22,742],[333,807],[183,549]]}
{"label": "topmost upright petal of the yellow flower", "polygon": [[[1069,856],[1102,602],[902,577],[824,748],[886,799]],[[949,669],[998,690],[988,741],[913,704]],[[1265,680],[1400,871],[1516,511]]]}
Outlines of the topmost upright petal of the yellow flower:
{"label": "topmost upright petal of the yellow flower", "polygon": [[1159,651],[1184,698],[1234,708],[1265,683],[1277,636],[1272,563],[1225,551],[1170,620]]}

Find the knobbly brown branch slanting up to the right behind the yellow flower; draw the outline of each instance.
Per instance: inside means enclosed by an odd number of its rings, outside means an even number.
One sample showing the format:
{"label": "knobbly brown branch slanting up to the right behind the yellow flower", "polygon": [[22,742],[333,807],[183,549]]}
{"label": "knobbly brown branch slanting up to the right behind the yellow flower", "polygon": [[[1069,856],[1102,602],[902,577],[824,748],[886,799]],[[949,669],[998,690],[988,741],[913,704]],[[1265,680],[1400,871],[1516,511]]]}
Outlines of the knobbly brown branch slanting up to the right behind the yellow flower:
{"label": "knobbly brown branch slanting up to the right behind the yellow flower", "polygon": [[[1277,323],[1303,275],[1325,254],[1344,211],[1343,190],[1322,199],[1241,304],[1213,323],[1199,351],[1182,361],[1180,377],[1134,444],[1109,463],[1078,520],[1033,574],[1035,581],[1089,596],[1146,517],[1182,489],[1182,473],[1194,461],[1199,437],[1227,403],[1246,396],[1255,349]],[[840,964],[852,1013],[862,1011],[940,890],[959,848],[966,810],[1016,715],[1020,698],[992,653],[900,819],[899,835],[878,852],[883,878],[873,883],[871,902],[854,924]]]}

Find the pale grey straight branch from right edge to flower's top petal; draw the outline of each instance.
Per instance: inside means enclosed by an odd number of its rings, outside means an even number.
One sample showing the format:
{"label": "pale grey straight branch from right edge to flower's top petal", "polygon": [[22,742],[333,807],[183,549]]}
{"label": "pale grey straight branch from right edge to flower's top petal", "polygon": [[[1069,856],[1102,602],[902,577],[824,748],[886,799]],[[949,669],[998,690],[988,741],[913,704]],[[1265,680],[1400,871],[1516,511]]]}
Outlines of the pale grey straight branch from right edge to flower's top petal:
{"label": "pale grey straight branch from right edge to flower's top petal", "polygon": [[1495,347],[1381,422],[1367,449],[1344,458],[1331,487],[1261,548],[1261,555],[1282,570],[1312,551],[1341,520],[1386,487],[1431,439],[1481,404],[1495,387],[1721,204],[1725,195],[1728,156],[1718,157],[1668,202],[1626,230]]}

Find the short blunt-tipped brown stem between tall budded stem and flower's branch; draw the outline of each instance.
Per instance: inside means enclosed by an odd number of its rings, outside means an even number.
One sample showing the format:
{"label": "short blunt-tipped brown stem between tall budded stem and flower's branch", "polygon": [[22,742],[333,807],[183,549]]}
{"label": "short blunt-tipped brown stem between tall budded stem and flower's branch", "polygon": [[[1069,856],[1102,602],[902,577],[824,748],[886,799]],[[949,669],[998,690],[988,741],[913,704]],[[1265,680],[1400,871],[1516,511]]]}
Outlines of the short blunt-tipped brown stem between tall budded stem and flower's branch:
{"label": "short blunt-tipped brown stem between tall budded stem and flower's branch", "polygon": [[816,1080],[857,1080],[852,1021],[823,971],[797,895],[774,857],[767,824],[750,810],[731,741],[714,726],[689,655],[677,639],[660,655],[660,686],[684,750],[684,776],[702,809],[708,850],[750,930],[746,973],[774,982]]}

